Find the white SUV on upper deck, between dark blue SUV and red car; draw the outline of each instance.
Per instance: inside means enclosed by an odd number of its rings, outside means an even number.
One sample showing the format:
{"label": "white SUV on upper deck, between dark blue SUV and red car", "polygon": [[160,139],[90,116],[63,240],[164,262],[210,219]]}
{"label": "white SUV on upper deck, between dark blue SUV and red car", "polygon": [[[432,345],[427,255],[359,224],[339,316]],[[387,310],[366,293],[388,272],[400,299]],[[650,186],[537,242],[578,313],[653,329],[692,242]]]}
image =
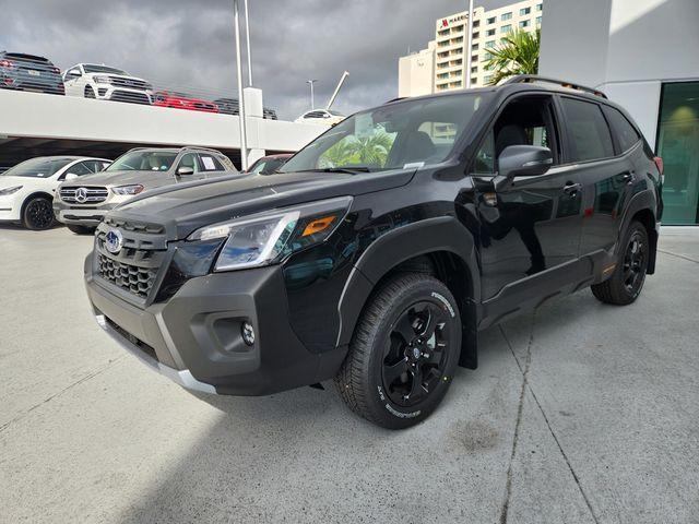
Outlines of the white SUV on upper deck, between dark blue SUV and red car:
{"label": "white SUV on upper deck, between dark blue SUV and red car", "polygon": [[79,63],[63,72],[66,94],[102,100],[153,104],[153,85],[120,69]]}

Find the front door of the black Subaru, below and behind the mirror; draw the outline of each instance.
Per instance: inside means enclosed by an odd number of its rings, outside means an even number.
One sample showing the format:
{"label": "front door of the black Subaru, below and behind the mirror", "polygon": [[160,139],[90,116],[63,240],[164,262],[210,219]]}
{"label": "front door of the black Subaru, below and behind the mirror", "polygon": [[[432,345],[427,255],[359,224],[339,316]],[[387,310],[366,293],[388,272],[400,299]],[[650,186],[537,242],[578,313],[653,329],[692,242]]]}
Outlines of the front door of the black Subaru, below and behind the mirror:
{"label": "front door of the black Subaru, below and behind the mirror", "polygon": [[[549,147],[554,166],[541,176],[516,177],[497,194],[484,192],[477,204],[482,300],[503,299],[512,309],[535,293],[521,283],[577,261],[582,221],[580,179],[573,168],[560,166],[556,110],[548,95],[519,97],[506,106],[476,154],[476,187],[494,175],[507,146],[528,144]],[[556,285],[557,279],[547,278]]]}

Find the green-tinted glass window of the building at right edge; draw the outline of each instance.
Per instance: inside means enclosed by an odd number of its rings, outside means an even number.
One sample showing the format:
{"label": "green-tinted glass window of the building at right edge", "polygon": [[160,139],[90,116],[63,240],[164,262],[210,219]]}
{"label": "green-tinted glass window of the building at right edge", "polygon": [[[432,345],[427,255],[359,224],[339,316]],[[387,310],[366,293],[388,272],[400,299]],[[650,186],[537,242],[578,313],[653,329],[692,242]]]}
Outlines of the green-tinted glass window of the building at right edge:
{"label": "green-tinted glass window of the building at right edge", "polygon": [[699,82],[663,84],[657,154],[665,167],[664,224],[699,224]]}

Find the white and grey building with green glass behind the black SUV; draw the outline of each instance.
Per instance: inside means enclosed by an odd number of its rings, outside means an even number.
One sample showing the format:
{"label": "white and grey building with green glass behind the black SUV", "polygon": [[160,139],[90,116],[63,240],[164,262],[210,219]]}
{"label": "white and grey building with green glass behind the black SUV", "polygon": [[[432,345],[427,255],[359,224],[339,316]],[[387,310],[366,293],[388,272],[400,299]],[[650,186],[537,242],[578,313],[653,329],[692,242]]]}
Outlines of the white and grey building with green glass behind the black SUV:
{"label": "white and grey building with green glass behind the black SUV", "polygon": [[544,0],[544,10],[540,73],[626,107],[664,160],[663,223],[699,224],[699,1]]}

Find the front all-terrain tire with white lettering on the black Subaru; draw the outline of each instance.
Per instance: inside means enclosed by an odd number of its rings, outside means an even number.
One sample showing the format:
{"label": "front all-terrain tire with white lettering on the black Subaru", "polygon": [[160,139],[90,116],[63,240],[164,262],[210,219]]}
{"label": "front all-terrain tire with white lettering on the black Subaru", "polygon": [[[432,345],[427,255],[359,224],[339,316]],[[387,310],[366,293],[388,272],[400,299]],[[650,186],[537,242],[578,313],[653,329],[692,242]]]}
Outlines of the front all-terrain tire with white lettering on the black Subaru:
{"label": "front all-terrain tire with white lettering on the black Subaru", "polygon": [[[416,308],[431,311],[427,313],[430,319],[434,314],[434,322],[438,327],[429,338],[433,341],[431,346],[429,341],[422,341],[419,344],[425,350],[424,361],[428,360],[425,356],[428,357],[431,353],[433,359],[439,359],[439,365],[431,368],[433,364],[427,362],[426,368],[422,369],[429,369],[429,372],[419,371],[416,376],[414,365],[410,364],[408,357],[405,356],[406,366],[413,366],[413,371],[410,371],[410,368],[406,369],[413,374],[401,373],[395,383],[402,386],[401,382],[406,379],[405,388],[408,390],[412,383],[418,383],[420,386],[431,383],[429,392],[420,391],[415,395],[415,398],[423,398],[425,395],[422,401],[416,405],[407,406],[392,400],[400,393],[393,391],[390,384],[389,386],[386,384],[383,373],[388,369],[386,359],[389,357],[384,353],[387,347],[389,352],[393,352],[391,347],[394,346],[395,330],[399,324],[406,325],[401,320],[408,322],[407,325],[415,330],[416,337],[420,336],[419,327],[423,325],[419,324],[420,319],[417,314],[422,312]],[[415,313],[415,317],[413,317],[413,323],[410,323],[412,313]],[[399,335],[398,345],[404,344],[404,348],[395,349],[396,354],[403,350],[405,355],[408,352],[412,355],[414,347],[403,341],[405,337]],[[442,342],[436,344],[435,341]],[[441,344],[445,347],[436,349],[436,345]],[[335,377],[335,384],[343,401],[357,415],[384,428],[407,428],[420,422],[437,408],[451,383],[460,350],[461,317],[457,301],[447,286],[424,273],[400,273],[383,283],[367,301],[355,327],[345,361]],[[415,377],[419,377],[420,380],[415,381]],[[428,378],[431,382],[428,382]],[[407,396],[412,394],[413,391],[410,391]]]}

